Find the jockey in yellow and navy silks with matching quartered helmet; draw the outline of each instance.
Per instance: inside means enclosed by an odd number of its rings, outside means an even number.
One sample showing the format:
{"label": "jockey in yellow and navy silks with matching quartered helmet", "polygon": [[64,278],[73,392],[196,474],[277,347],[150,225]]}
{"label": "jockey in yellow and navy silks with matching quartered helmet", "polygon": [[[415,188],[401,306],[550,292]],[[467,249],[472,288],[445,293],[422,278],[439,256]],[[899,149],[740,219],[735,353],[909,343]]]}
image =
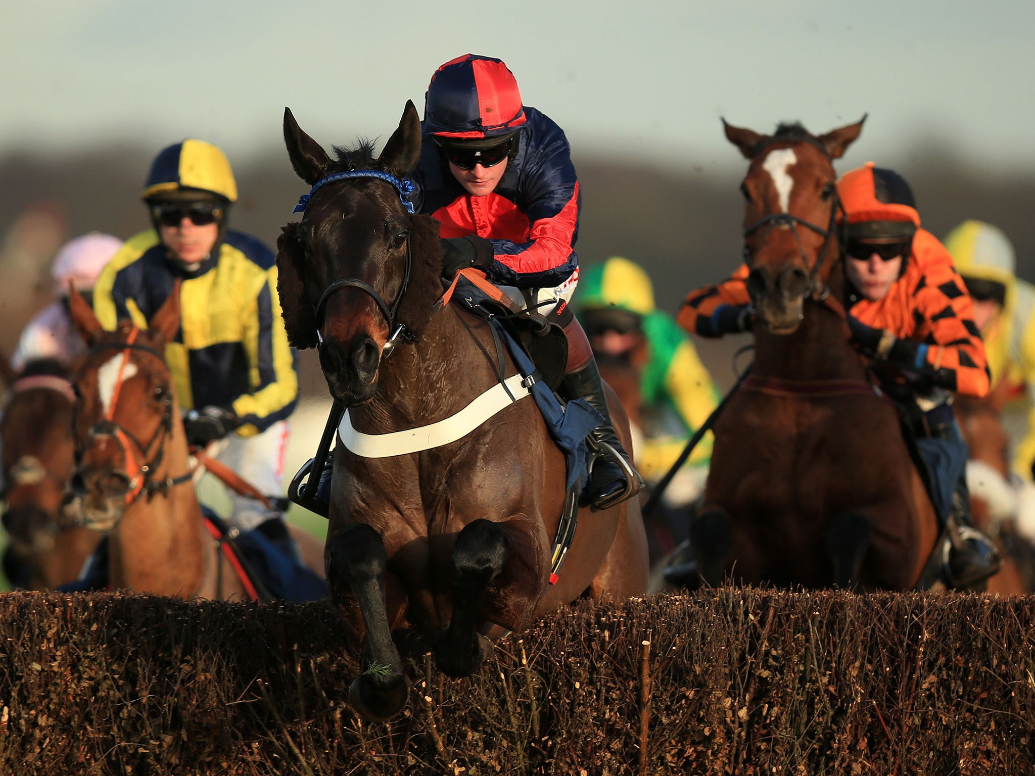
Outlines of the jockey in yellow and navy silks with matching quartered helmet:
{"label": "jockey in yellow and navy silks with matching quartered helmet", "polygon": [[[226,437],[216,457],[263,493],[283,495],[298,376],[273,252],[228,229],[237,184],[213,145],[185,140],[162,150],[143,199],[154,229],[129,238],[101,273],[93,295],[97,318],[106,328],[123,318],[145,327],[181,279],[180,331],[166,361],[180,407],[195,410],[185,416],[187,440],[206,445]],[[249,530],[274,516],[236,497],[230,519]]]}

